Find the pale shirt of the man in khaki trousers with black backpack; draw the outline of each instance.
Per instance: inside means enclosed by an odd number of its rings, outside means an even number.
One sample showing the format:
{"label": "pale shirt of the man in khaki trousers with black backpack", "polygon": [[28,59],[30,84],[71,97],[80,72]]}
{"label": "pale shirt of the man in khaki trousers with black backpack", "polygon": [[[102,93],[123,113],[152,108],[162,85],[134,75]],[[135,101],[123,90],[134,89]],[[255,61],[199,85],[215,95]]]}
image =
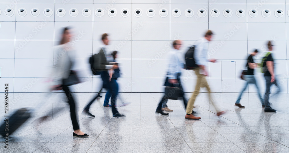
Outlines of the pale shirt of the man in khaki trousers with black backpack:
{"label": "pale shirt of the man in khaki trousers with black backpack", "polygon": [[194,59],[197,65],[207,66],[209,62],[209,41],[201,37],[194,45]]}

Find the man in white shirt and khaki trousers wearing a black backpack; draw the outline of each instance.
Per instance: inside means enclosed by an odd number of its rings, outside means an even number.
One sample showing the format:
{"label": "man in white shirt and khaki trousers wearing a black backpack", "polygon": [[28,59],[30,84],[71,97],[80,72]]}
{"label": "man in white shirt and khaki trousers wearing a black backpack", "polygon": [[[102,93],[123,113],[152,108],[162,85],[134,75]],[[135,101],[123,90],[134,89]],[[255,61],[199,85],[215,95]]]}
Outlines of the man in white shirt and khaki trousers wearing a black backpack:
{"label": "man in white shirt and khaki trousers wearing a black backpack", "polygon": [[[201,37],[196,43],[195,43],[195,50],[194,50],[194,60],[197,64],[197,67],[194,68],[194,71],[197,75],[197,83],[195,87],[195,91],[192,94],[190,100],[188,101],[187,109],[186,109],[186,116],[185,119],[195,119],[195,116],[192,115],[194,102],[196,100],[197,95],[200,92],[201,87],[206,87],[209,93],[209,101],[214,106],[215,110],[218,111],[218,108],[214,102],[212,102],[212,96],[211,96],[211,89],[210,86],[206,80],[206,76],[209,75],[208,73],[208,62],[216,62],[216,60],[209,60],[209,41],[212,39],[213,32],[211,30],[208,30],[205,34],[205,37]],[[220,111],[217,112],[217,116],[220,116],[224,114],[225,112]]]}

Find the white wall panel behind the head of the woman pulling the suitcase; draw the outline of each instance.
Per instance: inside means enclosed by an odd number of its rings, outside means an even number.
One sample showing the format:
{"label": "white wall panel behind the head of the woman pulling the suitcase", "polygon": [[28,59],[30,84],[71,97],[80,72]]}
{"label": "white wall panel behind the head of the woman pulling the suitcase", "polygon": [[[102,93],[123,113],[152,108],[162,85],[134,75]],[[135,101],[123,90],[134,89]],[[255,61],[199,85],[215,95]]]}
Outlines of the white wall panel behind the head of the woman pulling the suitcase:
{"label": "white wall panel behind the head of the woman pulling the suitcase", "polygon": [[71,28],[71,39],[92,40],[92,22],[55,22],[54,40],[61,40],[62,32],[65,27]]}

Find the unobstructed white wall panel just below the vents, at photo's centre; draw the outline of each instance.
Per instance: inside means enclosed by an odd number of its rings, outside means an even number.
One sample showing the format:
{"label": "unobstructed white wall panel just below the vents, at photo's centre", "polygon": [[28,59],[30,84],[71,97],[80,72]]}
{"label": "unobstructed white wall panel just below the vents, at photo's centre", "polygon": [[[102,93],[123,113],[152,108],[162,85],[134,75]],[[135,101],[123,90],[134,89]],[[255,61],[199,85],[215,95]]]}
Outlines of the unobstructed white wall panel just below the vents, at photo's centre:
{"label": "unobstructed white wall panel just below the vents, at photo's centre", "polygon": [[170,40],[169,22],[133,22],[132,40]]}

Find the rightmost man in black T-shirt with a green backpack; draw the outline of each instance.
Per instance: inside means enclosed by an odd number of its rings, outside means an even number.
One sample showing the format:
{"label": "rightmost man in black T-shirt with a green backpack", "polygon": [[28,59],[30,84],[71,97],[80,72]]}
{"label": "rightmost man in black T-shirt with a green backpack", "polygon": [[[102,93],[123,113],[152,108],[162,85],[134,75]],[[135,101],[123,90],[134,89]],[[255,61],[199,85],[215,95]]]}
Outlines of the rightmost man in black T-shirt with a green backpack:
{"label": "rightmost man in black T-shirt with a green backpack", "polygon": [[276,112],[275,109],[271,108],[270,103],[269,103],[269,94],[270,94],[270,87],[271,85],[275,84],[278,88],[279,86],[277,85],[277,80],[275,79],[275,74],[274,74],[274,60],[272,56],[272,50],[273,50],[273,45],[271,41],[268,41],[267,43],[268,46],[268,51],[265,52],[265,56],[262,59],[261,63],[261,72],[264,73],[264,77],[266,80],[266,91],[265,91],[265,96],[264,96],[264,103],[265,103],[265,112]]}

